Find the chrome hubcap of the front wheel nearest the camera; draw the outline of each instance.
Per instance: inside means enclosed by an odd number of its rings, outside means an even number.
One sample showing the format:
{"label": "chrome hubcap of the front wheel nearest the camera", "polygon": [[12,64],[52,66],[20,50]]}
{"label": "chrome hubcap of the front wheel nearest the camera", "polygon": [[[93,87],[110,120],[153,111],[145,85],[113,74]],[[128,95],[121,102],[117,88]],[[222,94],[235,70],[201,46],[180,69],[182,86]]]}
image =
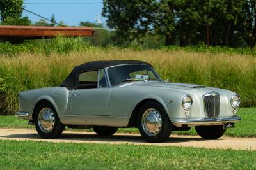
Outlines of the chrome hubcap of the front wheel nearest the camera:
{"label": "chrome hubcap of the front wheel nearest the camera", "polygon": [[143,131],[148,136],[156,136],[159,134],[162,127],[162,118],[159,111],[150,108],[143,113],[142,117]]}

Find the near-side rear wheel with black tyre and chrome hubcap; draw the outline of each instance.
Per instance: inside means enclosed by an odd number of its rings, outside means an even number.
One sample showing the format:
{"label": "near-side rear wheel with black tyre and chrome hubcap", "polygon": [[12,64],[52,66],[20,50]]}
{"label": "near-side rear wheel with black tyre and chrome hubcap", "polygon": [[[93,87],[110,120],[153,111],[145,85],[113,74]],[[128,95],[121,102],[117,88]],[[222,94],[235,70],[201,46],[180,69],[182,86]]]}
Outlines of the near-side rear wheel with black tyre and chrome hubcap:
{"label": "near-side rear wheel with black tyre and chrome hubcap", "polygon": [[59,138],[65,128],[49,102],[42,102],[35,110],[35,126],[38,134],[45,139]]}

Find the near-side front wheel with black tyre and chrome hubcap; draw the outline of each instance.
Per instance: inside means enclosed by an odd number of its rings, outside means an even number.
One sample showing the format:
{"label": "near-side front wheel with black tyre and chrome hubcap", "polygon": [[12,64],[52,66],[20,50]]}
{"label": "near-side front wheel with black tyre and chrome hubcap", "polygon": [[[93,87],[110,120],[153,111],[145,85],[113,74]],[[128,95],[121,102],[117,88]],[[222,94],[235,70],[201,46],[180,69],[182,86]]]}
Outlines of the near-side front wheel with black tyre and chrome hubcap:
{"label": "near-side front wheel with black tyre and chrome hubcap", "polygon": [[149,101],[140,109],[138,128],[148,142],[159,143],[169,138],[172,122],[161,104]]}

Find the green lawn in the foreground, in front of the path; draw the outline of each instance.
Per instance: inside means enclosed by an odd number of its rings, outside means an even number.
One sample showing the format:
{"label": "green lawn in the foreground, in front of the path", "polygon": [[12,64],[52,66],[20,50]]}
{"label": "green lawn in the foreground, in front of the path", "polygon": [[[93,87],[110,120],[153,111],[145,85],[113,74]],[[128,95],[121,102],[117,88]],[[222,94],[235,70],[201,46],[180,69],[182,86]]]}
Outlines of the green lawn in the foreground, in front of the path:
{"label": "green lawn in the foreground, in front of the path", "polygon": [[172,146],[1,141],[1,169],[256,169],[256,152]]}

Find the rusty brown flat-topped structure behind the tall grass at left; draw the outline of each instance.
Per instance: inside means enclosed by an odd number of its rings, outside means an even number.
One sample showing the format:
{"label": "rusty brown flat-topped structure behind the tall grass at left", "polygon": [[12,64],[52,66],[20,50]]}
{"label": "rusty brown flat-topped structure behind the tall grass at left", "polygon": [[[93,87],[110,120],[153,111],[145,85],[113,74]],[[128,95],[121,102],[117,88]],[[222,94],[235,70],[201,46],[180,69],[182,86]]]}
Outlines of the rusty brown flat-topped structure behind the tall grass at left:
{"label": "rusty brown flat-topped structure behind the tall grass at left", "polygon": [[20,43],[26,39],[42,39],[54,36],[93,36],[92,27],[38,27],[0,25],[0,40]]}

